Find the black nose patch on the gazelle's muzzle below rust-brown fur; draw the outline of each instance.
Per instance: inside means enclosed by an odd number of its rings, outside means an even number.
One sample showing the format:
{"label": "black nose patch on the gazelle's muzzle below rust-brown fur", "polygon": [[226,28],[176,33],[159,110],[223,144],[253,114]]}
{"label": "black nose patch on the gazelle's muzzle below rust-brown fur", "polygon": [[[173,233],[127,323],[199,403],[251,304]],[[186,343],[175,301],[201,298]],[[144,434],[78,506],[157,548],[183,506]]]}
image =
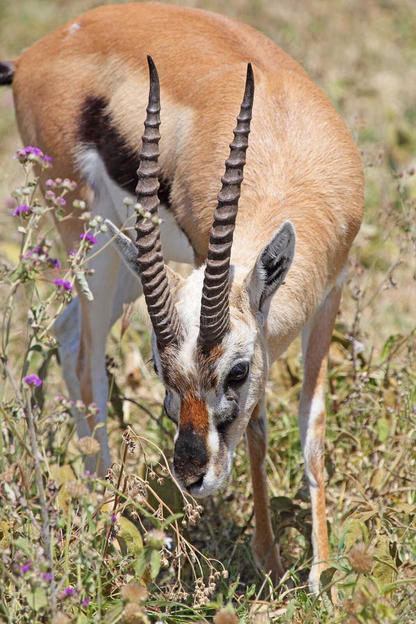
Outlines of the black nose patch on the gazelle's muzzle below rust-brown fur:
{"label": "black nose patch on the gazelle's muzzle below rust-brown fur", "polygon": [[173,453],[175,474],[184,487],[202,485],[207,471],[208,451],[205,437],[192,426],[180,431]]}

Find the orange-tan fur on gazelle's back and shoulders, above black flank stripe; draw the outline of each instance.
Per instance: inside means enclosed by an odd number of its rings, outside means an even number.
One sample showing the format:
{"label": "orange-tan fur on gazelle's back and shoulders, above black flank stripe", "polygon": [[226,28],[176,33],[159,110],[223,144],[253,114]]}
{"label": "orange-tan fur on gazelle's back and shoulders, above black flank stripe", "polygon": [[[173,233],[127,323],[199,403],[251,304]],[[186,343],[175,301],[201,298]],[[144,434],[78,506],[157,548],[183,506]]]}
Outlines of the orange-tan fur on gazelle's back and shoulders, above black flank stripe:
{"label": "orange-tan fur on gazelle's back and shoulders, above black flank stripe", "polygon": [[[69,34],[75,22],[80,28]],[[290,216],[309,262],[317,260],[316,239],[320,242],[322,258],[314,263],[320,271],[313,277],[322,288],[322,281],[333,279],[345,263],[361,221],[359,157],[318,87],[250,26],[157,3],[85,13],[33,44],[16,62],[14,92],[24,141],[42,147],[57,171],[63,168],[73,177],[67,169],[77,114],[85,94],[94,94],[110,96],[117,125],[138,150],[148,90],[146,54],[155,60],[161,80],[162,175],[173,181],[173,209],[198,261],[205,258],[250,60],[256,97],[233,257],[252,257],[270,230]],[[256,227],[252,236],[253,223],[267,223],[267,232]]]}

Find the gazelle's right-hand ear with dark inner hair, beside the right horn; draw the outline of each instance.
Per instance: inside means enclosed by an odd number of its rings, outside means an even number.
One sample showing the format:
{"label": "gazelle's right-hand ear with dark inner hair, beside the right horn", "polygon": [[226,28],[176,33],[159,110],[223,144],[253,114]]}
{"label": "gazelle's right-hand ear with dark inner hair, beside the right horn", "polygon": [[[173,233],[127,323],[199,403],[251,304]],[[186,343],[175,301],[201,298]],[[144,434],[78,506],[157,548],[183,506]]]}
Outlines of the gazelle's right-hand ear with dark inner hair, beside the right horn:
{"label": "gazelle's right-hand ear with dark inner hair, beside the right horn", "polygon": [[263,312],[277,288],[284,284],[295,255],[295,228],[285,221],[259,253],[248,276],[248,293],[256,308]]}

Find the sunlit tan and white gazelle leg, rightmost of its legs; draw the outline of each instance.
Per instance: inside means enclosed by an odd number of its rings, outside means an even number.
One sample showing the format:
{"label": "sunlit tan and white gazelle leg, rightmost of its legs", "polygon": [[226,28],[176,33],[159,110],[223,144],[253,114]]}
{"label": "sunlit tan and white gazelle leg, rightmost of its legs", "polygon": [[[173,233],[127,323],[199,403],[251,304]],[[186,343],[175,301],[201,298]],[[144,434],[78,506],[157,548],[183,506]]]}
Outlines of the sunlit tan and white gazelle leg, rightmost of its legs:
{"label": "sunlit tan and white gazelle leg, rightmost of its legs", "polygon": [[321,572],[327,568],[329,544],[324,487],[325,388],[327,356],[341,288],[334,286],[302,331],[304,381],[300,395],[299,427],[306,478],[311,494],[313,560],[309,587],[319,591]]}

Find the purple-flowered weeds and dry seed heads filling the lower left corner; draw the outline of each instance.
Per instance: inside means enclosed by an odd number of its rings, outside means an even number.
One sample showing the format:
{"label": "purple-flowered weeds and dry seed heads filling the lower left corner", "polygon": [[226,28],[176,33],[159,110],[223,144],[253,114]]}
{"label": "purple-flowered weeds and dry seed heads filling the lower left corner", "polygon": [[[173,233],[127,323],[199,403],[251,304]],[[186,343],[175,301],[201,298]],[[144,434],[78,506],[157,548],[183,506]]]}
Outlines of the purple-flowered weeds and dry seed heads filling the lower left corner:
{"label": "purple-flowered weeds and dry seed heads filling the lower left corner", "polygon": [[[0,621],[148,622],[160,588],[169,601],[205,605],[227,573],[183,535],[202,508],[181,492],[173,510],[153,486],[174,483],[157,444],[127,428],[105,480],[83,469],[99,445],[76,440],[70,413],[87,418],[97,408],[53,381],[53,322],[76,291],[92,298],[88,259],[105,225],[76,198],[76,182],[50,177],[40,189],[52,167],[40,149],[15,158],[24,175],[10,215],[19,257],[1,266]],[[64,258],[50,217],[83,225]],[[128,471],[130,456],[139,456],[141,476]]]}

